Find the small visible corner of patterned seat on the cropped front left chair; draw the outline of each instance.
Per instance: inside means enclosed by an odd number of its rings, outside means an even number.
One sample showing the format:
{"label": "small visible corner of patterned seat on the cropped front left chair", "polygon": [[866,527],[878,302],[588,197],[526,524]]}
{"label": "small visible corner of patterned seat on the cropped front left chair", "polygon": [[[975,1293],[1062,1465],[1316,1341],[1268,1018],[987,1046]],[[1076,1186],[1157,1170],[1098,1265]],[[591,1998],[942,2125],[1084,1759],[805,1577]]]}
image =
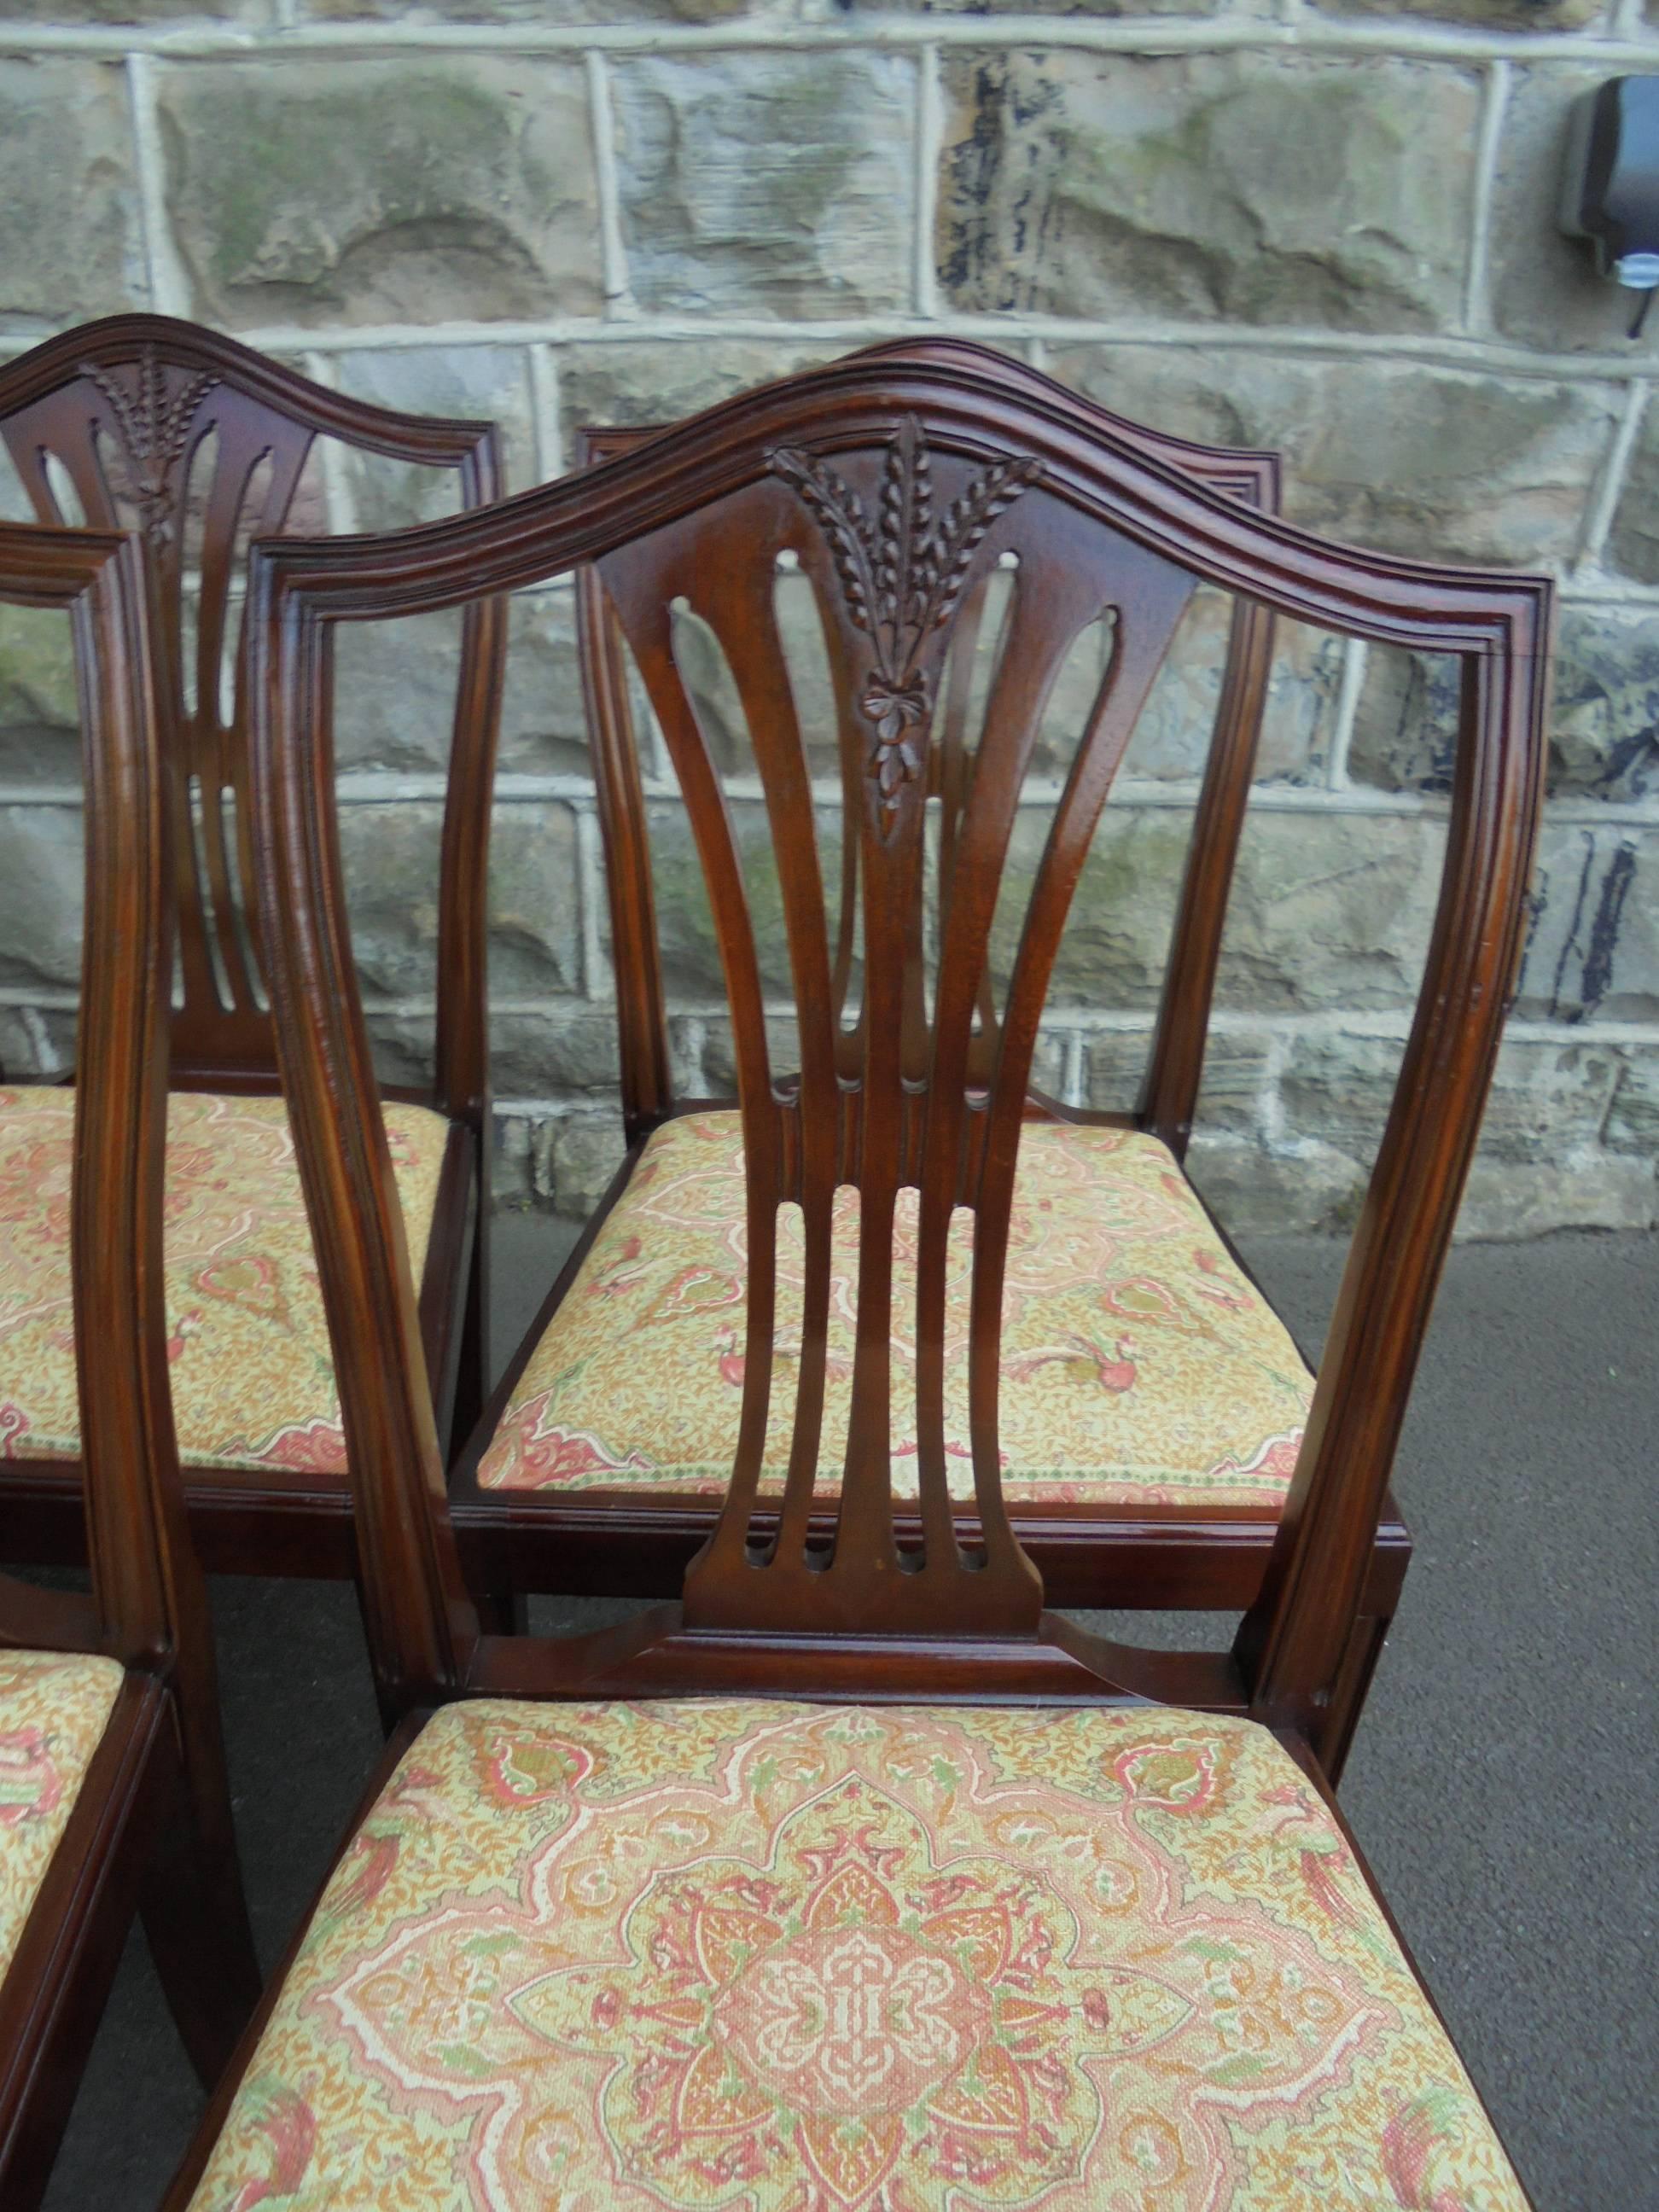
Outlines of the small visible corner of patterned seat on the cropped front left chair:
{"label": "small visible corner of patterned seat on the cropped front left chair", "polygon": [[0,1973],[122,1688],[115,1659],[0,1652]]}

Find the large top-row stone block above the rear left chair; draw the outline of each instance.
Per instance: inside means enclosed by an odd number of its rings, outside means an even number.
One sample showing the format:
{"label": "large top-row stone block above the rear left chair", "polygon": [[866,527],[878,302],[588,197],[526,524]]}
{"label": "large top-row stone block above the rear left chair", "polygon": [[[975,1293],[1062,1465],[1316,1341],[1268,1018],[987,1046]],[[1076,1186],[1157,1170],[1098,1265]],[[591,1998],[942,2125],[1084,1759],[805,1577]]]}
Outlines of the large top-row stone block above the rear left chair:
{"label": "large top-row stone block above the rear left chair", "polygon": [[208,321],[491,321],[599,301],[577,62],[199,62],[164,71],[159,104],[168,210]]}

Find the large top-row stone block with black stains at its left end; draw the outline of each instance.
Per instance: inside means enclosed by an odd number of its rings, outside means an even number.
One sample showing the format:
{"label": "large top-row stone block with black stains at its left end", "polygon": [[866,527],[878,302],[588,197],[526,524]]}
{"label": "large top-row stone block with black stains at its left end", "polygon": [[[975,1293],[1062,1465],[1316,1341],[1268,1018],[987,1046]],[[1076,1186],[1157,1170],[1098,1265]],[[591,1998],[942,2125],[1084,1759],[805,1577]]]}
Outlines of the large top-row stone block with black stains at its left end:
{"label": "large top-row stone block with black stains at its left end", "polygon": [[1385,58],[945,64],[958,307],[1438,330],[1462,301],[1478,86]]}

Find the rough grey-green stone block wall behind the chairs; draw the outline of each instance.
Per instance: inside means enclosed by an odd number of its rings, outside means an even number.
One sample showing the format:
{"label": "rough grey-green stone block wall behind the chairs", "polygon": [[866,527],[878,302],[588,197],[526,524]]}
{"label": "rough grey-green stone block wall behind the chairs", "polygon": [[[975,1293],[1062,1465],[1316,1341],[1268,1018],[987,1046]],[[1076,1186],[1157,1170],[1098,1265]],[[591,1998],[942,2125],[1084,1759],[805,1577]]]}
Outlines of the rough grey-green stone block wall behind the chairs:
{"label": "rough grey-green stone block wall behind the chairs", "polygon": [[[515,487],[582,420],[677,416],[909,330],[1287,453],[1290,513],[1564,586],[1548,825],[1467,1232],[1648,1225],[1659,1150],[1652,336],[1553,228],[1573,97],[1659,69],[1659,0],[9,0],[0,347],[124,305],[341,389],[500,418]],[[332,458],[336,529],[427,513]],[[60,1064],[75,975],[66,641],[0,622],[0,1051]],[[1144,1060],[1214,699],[1199,602],[1082,889],[1048,1084]],[[345,852],[389,1071],[425,1064],[453,626],[356,633]],[[1405,1035],[1444,838],[1447,672],[1287,633],[1228,927],[1199,1170],[1338,1225]],[[672,785],[675,1053],[728,1068]],[[739,805],[757,843],[754,810]],[[1042,830],[1042,792],[1015,858]],[[763,843],[763,841],[761,841]],[[763,854],[761,854],[763,858]],[[500,1188],[584,1210],[617,1148],[599,849],[562,591],[513,613],[493,867]]]}

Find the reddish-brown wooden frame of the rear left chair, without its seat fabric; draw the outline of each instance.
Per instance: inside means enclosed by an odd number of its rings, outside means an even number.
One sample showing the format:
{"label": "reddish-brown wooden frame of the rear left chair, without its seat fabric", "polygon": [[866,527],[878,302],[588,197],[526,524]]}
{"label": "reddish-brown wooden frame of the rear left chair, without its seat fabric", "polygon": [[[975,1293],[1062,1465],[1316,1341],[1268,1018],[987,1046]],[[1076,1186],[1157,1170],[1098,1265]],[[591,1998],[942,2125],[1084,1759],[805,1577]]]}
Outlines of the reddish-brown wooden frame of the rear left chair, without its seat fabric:
{"label": "reddish-brown wooden frame of the rear left chair, without its seat fabric", "polygon": [[[489,422],[369,407],[192,323],[119,314],[49,338],[0,369],[0,436],[42,522],[131,526],[148,540],[159,723],[175,768],[181,1000],[173,1006],[173,1084],[274,1093],[237,604],[248,538],[288,526],[319,438],[447,469],[460,507],[482,507],[502,489],[498,434]],[[64,480],[80,515],[62,511]],[[420,1292],[445,1436],[465,1436],[478,1418],[487,1358],[484,865],[504,644],[500,602],[467,608],[438,878],[436,1075],[429,1091],[400,1093],[453,1124]],[[80,1557],[73,1462],[7,1462],[0,1495],[0,1557]],[[215,1573],[354,1571],[345,1480],[192,1469],[188,1498]]]}

